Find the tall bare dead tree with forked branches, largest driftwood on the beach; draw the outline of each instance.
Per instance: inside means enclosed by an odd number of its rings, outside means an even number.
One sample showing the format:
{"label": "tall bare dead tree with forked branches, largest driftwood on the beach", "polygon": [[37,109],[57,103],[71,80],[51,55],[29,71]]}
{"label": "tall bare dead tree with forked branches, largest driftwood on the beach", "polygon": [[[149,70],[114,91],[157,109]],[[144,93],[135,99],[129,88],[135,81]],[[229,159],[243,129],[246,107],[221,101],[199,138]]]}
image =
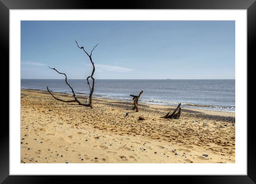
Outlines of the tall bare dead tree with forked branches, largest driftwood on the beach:
{"label": "tall bare dead tree with forked branches, largest driftwood on the beach", "polygon": [[[75,42],[77,43],[77,41],[75,41]],[[97,45],[98,45],[98,44],[97,44]],[[93,50],[94,50],[95,47],[97,47],[97,45],[93,47]],[[77,46],[78,46],[78,43],[77,43]],[[78,46],[78,47],[79,47],[79,46]],[[59,100],[59,101],[61,101],[61,102],[67,102],[67,103],[69,103],[69,102],[77,102],[77,103],[78,103],[79,105],[81,105],[81,106],[86,106],[86,107],[93,108],[93,106],[92,106],[92,95],[93,95],[94,84],[95,84],[95,79],[93,78],[93,74],[94,74],[94,72],[95,72],[95,66],[94,66],[94,63],[93,63],[93,60],[92,60],[92,52],[93,52],[93,50],[91,51],[91,53],[90,53],[90,55],[89,55],[89,54],[84,50],[84,47],[79,47],[79,48],[80,48],[80,49],[83,49],[83,51],[89,56],[90,62],[91,62],[92,65],[93,65],[92,74],[87,77],[87,83],[88,83],[89,88],[90,88],[89,103],[81,103],[81,102],[77,99],[77,96],[75,95],[75,92],[74,92],[73,88],[69,85],[69,83],[68,83],[68,81],[67,81],[67,75],[66,75],[65,73],[60,73],[60,72],[59,72],[58,70],[56,70],[55,68],[51,68],[51,67],[49,67],[49,66],[48,66],[49,68],[55,70],[56,72],[65,75],[65,82],[66,82],[67,85],[71,88],[72,93],[73,93],[74,100],[66,101],[66,100],[63,100],[63,99],[60,99],[60,98],[56,98],[56,97],[53,95],[53,93],[51,93],[51,91],[49,90],[48,86],[47,86],[47,90],[49,91],[49,93],[51,94],[51,96],[53,96],[54,99]],[[92,78],[92,80],[93,80],[92,87],[91,87],[91,85],[90,85],[89,78]]]}

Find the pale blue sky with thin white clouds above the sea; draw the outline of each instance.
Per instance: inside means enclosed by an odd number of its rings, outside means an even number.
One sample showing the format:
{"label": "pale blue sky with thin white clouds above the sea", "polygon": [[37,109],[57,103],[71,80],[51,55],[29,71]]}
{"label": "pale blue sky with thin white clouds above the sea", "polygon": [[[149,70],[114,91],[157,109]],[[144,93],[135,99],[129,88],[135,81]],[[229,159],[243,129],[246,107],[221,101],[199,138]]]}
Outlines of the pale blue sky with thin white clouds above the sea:
{"label": "pale blue sky with thin white clouds above the sea", "polygon": [[235,21],[21,21],[21,78],[234,79]]}

